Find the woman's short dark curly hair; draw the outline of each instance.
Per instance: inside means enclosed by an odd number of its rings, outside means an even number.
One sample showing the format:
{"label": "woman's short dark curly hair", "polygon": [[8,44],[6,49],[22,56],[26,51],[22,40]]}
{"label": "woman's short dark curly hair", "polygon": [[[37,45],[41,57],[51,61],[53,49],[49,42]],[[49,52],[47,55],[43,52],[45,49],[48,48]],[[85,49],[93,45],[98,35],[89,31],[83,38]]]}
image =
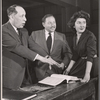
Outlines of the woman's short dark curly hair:
{"label": "woman's short dark curly hair", "polygon": [[67,24],[72,30],[75,31],[74,25],[75,25],[75,21],[77,20],[77,18],[85,18],[86,24],[87,24],[87,26],[89,26],[90,15],[87,12],[81,10],[79,12],[74,13]]}

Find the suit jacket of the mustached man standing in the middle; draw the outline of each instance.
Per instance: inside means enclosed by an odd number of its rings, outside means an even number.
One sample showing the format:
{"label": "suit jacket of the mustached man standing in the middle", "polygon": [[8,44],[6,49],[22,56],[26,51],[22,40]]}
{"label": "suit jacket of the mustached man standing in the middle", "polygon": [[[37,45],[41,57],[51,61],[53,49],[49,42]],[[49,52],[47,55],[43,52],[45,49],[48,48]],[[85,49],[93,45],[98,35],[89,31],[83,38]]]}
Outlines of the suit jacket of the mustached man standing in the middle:
{"label": "suit jacket of the mustached man standing in the middle", "polygon": [[[44,32],[45,32],[44,30],[34,31],[32,32],[29,38],[29,48],[31,50],[37,51],[37,49],[34,48],[33,46],[33,43],[36,42],[43,49],[41,50],[42,56],[49,55]],[[54,59],[58,63],[63,62],[66,66],[68,65],[71,58],[71,50],[68,46],[68,43],[66,41],[66,37],[64,34],[61,34],[58,32],[54,33],[54,44],[53,44],[53,49],[50,53],[50,56],[52,59]],[[58,69],[58,67],[55,67],[55,68]],[[49,70],[49,68],[47,67],[47,64],[43,64],[40,61],[38,62],[37,67],[35,69],[36,69],[36,75],[37,75],[38,80],[41,80],[44,77],[46,77],[45,74]]]}

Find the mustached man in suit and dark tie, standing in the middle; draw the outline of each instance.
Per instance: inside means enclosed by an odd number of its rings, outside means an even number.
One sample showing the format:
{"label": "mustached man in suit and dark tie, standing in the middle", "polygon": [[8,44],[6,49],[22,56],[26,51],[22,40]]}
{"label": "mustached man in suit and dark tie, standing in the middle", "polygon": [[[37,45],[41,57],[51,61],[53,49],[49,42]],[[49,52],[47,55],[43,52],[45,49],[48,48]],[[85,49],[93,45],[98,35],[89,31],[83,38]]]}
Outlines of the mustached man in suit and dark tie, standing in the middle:
{"label": "mustached man in suit and dark tie, standing in the middle", "polygon": [[72,56],[65,35],[55,31],[55,17],[52,14],[45,15],[42,18],[42,25],[45,29],[32,32],[29,38],[29,48],[37,51],[36,48],[33,48],[33,43],[37,43],[44,50],[42,51],[42,56],[48,55],[49,58],[58,62],[59,66],[50,66],[49,64],[38,61],[35,67],[38,80],[50,76],[53,73],[61,74]]}

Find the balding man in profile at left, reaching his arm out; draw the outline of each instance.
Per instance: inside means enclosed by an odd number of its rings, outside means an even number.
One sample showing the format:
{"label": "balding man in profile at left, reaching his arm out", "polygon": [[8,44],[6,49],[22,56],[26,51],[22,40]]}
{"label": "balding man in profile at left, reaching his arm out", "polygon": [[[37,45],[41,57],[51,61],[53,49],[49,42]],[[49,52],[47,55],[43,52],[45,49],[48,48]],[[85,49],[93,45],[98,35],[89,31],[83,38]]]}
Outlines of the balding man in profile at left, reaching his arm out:
{"label": "balding man in profile at left, reaching his arm out", "polygon": [[[26,12],[21,6],[10,6],[7,14],[9,21],[2,26],[3,87],[18,89],[23,81],[26,59],[40,60],[51,65],[57,63],[53,59],[40,56],[41,52],[38,50],[34,52],[28,48],[28,32],[23,28],[26,22]],[[36,43],[33,47],[42,51]]]}

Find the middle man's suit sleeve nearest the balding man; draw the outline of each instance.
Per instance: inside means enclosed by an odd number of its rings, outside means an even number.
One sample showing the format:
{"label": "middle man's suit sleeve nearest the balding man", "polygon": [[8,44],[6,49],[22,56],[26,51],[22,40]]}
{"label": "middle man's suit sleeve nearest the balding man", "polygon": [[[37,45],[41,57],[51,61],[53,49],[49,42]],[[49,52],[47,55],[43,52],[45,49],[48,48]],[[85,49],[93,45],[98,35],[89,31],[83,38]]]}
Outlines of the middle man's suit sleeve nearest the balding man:
{"label": "middle man's suit sleeve nearest the balding man", "polygon": [[36,42],[35,42],[35,35],[34,32],[30,35],[29,37],[29,48],[32,51],[35,51],[36,53],[38,53],[41,56],[46,56],[46,52],[41,48],[41,46],[39,46]]}

